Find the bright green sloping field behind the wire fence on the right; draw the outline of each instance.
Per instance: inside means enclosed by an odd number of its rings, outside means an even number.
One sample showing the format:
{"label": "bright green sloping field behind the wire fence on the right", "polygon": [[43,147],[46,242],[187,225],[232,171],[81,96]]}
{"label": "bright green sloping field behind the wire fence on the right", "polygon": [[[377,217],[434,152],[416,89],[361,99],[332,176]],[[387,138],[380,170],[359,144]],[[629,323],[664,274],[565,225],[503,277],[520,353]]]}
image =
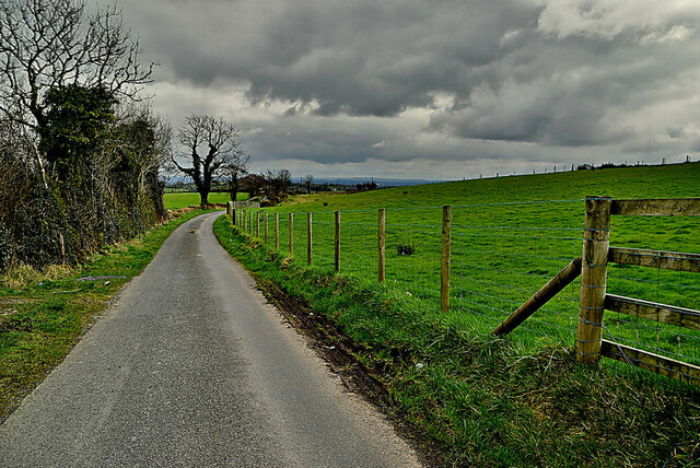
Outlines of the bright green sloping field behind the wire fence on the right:
{"label": "bright green sloping field behind the wire fence on the right", "polygon": [[[581,256],[586,196],[700,196],[700,164],[581,171],[399,187],[372,192],[300,196],[267,209],[269,243],[280,215],[280,251],[306,260],[306,212],[313,212],[313,265],[334,268],[334,211],[341,211],[340,271],[365,281],[377,276],[377,209],[386,212],[386,283],[438,313],[441,206],[453,206],[451,312],[453,326],[488,335],[573,258]],[[262,225],[262,222],[261,222]],[[264,227],[261,227],[264,237]],[[399,255],[410,244],[413,255]],[[610,245],[700,253],[700,219],[614,217]],[[574,282],[512,334],[524,349],[572,346],[580,282]],[[693,273],[612,265],[608,291],[700,308]],[[606,313],[606,339],[700,365],[700,334]],[[612,364],[611,364],[612,365]]]}

